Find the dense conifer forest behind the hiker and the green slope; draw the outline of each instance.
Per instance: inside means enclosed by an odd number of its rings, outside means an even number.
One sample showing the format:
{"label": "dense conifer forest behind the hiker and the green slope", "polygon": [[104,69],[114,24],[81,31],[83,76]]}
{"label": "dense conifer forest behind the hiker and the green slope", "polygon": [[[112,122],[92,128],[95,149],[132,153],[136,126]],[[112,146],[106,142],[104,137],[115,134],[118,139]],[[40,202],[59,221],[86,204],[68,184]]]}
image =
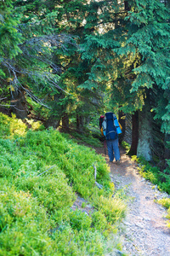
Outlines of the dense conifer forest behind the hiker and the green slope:
{"label": "dense conifer forest behind the hiker and the green slope", "polygon": [[170,174],[170,1],[0,1],[0,107],[65,131],[132,119],[129,154]]}

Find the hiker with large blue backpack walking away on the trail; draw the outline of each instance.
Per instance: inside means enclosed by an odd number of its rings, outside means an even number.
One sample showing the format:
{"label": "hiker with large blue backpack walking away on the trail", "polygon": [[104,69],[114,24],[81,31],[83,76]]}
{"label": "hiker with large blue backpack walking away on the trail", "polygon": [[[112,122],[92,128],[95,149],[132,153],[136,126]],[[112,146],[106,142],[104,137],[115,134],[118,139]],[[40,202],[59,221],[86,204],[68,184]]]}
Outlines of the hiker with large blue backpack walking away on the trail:
{"label": "hiker with large blue backpack walking away on the trail", "polygon": [[115,159],[116,164],[120,165],[118,134],[122,133],[122,131],[114,113],[105,113],[105,117],[103,116],[101,132],[103,132],[106,139],[110,162],[113,162]]}

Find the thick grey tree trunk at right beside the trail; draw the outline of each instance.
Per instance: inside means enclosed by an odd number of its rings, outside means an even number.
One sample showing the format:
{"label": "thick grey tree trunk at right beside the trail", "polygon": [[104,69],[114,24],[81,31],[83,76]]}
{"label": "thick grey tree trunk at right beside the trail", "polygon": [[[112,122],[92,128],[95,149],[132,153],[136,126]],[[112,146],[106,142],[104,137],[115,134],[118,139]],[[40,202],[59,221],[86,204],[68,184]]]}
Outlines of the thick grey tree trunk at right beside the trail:
{"label": "thick grey tree trunk at right beside the trail", "polygon": [[150,112],[149,96],[146,97],[142,111],[139,111],[139,143],[137,156],[143,156],[145,160],[152,160],[152,115]]}

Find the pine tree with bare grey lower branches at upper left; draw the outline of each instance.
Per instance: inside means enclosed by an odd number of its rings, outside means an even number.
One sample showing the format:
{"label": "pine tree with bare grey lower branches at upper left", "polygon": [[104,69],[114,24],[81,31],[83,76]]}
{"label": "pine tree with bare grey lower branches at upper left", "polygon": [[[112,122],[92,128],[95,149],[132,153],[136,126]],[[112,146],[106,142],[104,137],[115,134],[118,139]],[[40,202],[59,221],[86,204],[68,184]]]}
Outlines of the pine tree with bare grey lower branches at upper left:
{"label": "pine tree with bare grey lower branches at upper left", "polygon": [[[54,12],[50,13],[53,4],[48,9],[48,1],[37,2],[14,1],[13,4],[10,2],[13,19],[20,18],[20,23],[14,30],[18,55],[14,54],[14,47],[11,46],[13,55],[11,54],[9,58],[10,51],[7,49],[6,62],[1,62],[7,78],[6,84],[10,85],[11,89],[11,103],[15,102],[13,112],[21,118],[26,117],[28,112],[28,104],[22,104],[26,99],[30,98],[30,103],[32,100],[37,102],[44,112],[44,108],[52,108],[48,102],[52,101],[54,95],[61,94],[61,91],[65,94],[65,90],[59,87],[61,71],[59,61],[54,61],[54,55],[58,49],[66,50],[67,46],[75,45],[71,36],[61,35],[54,28]],[[8,9],[4,10],[4,14],[8,15]],[[14,24],[11,22],[11,25]],[[5,33],[5,37],[7,36],[8,32]]]}

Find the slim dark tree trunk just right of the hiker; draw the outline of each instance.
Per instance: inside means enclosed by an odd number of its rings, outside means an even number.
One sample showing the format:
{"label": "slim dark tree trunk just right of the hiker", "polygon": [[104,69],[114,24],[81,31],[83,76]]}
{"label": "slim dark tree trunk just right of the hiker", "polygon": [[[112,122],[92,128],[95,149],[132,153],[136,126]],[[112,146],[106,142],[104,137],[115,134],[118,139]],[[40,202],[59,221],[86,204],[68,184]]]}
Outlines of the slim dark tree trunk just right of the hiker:
{"label": "slim dark tree trunk just right of the hiker", "polygon": [[138,142],[139,142],[139,112],[138,111],[132,114],[132,123],[133,123],[132,144],[128,152],[128,155],[137,154],[137,148],[138,148]]}

